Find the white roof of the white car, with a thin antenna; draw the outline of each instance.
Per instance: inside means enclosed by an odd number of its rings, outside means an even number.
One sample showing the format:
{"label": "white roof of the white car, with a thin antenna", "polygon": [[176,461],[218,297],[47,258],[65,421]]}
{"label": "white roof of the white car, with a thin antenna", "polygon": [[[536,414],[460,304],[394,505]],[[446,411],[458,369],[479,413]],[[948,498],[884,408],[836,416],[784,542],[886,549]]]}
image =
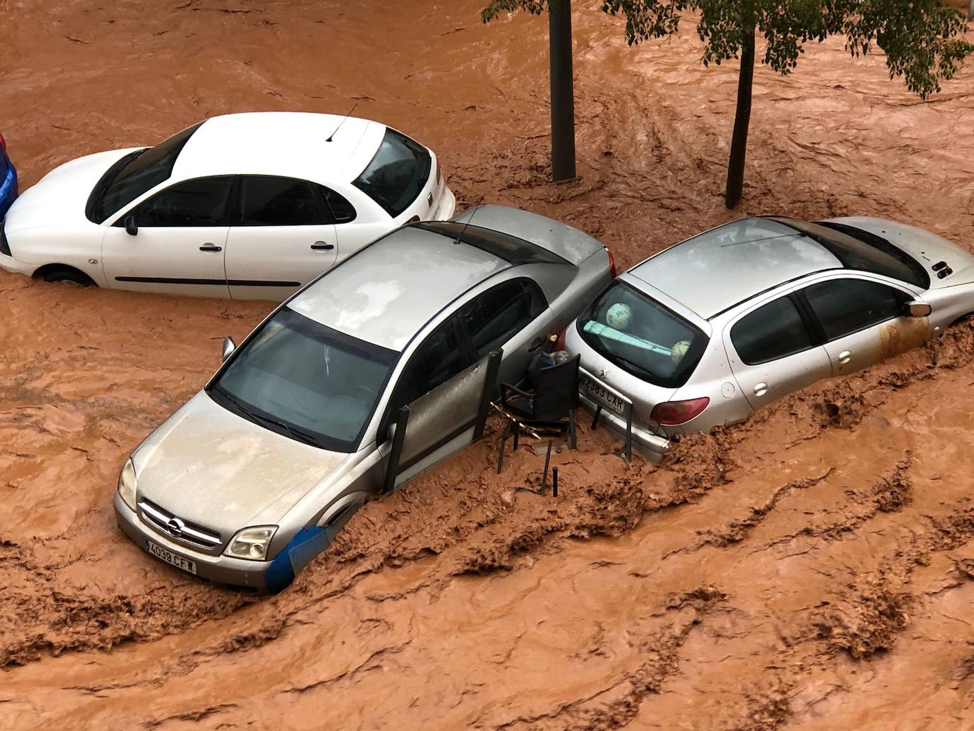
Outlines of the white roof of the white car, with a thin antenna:
{"label": "white roof of the white car, with a thin antenna", "polygon": [[179,153],[172,176],[185,180],[250,173],[351,182],[365,170],[385,134],[386,126],[378,122],[335,114],[225,114],[200,125]]}

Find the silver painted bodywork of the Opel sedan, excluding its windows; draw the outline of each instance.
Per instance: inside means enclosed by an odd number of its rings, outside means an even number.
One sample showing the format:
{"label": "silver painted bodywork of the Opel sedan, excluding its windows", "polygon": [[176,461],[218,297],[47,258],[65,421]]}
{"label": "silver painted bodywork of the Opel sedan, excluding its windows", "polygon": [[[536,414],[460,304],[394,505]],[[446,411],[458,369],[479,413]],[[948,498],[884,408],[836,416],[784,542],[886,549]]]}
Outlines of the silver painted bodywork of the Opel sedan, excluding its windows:
{"label": "silver painted bodywork of the Opel sedan, excluding its windows", "polygon": [[[519,220],[535,229],[562,225],[534,214]],[[530,233],[522,236],[517,227],[507,228],[507,233],[532,241]],[[382,274],[377,275],[376,269]],[[520,380],[534,344],[567,327],[581,307],[610,283],[605,248],[598,245],[578,264],[512,266],[483,250],[406,227],[359,250],[278,308],[289,307],[327,327],[400,351],[354,453],[329,452],[266,430],[216,404],[206,390],[133,452],[136,500],[151,500],[180,519],[217,529],[223,546],[244,527],[278,525],[268,551],[273,560],[248,561],[190,548],[154,528],[116,495],[120,525],[136,542],[148,538],[197,561],[200,576],[260,591],[281,588],[277,579],[268,578],[281,567],[281,559],[296,573],[337,532],[340,525],[332,521],[344,524],[367,497],[381,492],[392,446],[394,414],[389,404],[402,371],[426,337],[468,301],[518,278],[535,282],[548,302],[528,327],[503,344],[501,379]],[[382,287],[362,292],[376,282]],[[262,325],[244,338],[206,388],[244,351]],[[466,422],[477,402],[476,382],[479,377],[482,383],[482,368],[483,362],[470,366],[439,386],[431,398],[421,397],[411,404],[415,430],[407,426],[407,437],[412,436],[406,456],[413,464],[403,463],[407,466],[396,477],[396,485],[471,441],[473,427]],[[311,528],[322,530],[307,544],[296,546]],[[313,550],[305,550],[307,545]]]}

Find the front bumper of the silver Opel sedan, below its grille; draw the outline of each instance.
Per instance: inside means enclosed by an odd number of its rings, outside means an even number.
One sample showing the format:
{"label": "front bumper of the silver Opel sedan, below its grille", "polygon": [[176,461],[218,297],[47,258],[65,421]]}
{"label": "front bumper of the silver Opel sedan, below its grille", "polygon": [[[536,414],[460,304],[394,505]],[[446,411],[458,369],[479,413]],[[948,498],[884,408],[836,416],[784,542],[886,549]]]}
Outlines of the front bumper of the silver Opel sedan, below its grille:
{"label": "front bumper of the silver Opel sedan, below its grille", "polygon": [[[118,493],[115,493],[115,519],[118,520],[122,532],[139,547],[144,549],[145,541],[148,539],[177,556],[190,558],[196,562],[196,575],[210,581],[246,587],[259,593],[265,593],[280,591],[294,578],[291,574],[282,586],[278,586],[281,582],[275,581],[276,577],[273,572],[271,576],[268,575],[274,561],[248,561],[243,558],[209,556],[187,549],[182,544],[169,540],[142,522]],[[146,551],[146,558],[150,557],[154,558]],[[172,570],[178,571],[179,569],[173,567]]]}

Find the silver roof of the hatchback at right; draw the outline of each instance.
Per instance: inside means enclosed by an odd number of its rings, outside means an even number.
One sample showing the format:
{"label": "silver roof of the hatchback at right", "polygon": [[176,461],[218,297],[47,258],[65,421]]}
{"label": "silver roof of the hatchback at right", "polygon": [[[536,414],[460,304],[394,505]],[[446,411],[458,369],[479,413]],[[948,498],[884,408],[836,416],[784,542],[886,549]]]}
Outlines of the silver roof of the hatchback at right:
{"label": "silver roof of the hatchback at right", "polygon": [[800,231],[751,217],[662,250],[629,274],[710,319],[785,282],[841,267],[834,254]]}

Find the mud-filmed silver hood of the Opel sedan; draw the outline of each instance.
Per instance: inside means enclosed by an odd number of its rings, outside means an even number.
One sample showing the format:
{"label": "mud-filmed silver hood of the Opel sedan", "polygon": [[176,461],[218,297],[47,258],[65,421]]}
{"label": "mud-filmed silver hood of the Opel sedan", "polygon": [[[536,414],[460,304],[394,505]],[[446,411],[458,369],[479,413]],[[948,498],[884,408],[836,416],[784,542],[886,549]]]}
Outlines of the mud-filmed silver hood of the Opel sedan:
{"label": "mud-filmed silver hood of the Opel sedan", "polygon": [[218,531],[276,525],[350,455],[295,442],[201,391],[132,456],[138,500]]}

